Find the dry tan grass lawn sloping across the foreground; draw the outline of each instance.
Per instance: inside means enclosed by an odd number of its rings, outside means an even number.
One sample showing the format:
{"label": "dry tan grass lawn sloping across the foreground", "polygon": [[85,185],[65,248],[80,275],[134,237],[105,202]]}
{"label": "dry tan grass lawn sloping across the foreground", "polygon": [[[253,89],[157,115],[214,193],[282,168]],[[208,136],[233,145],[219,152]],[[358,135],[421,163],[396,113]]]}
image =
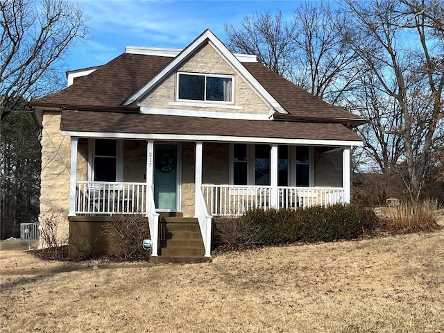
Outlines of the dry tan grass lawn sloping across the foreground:
{"label": "dry tan grass lawn sloping across the foreground", "polygon": [[1,252],[0,332],[444,332],[443,244],[439,230],[184,265]]}

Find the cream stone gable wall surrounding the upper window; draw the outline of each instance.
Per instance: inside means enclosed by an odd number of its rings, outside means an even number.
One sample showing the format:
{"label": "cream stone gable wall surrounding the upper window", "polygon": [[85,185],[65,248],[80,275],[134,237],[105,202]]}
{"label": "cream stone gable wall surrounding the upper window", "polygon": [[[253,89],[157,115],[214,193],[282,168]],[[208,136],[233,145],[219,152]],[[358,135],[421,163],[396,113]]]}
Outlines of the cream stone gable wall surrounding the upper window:
{"label": "cream stone gable wall surrounding the upper window", "polygon": [[[250,85],[248,85],[241,76],[230,67],[230,65],[219,56],[214,48],[207,44],[203,46],[191,59],[185,62],[178,71],[205,74],[221,74],[234,76],[234,105],[241,106],[242,109],[230,108],[211,108],[208,103],[205,108],[188,106],[188,105],[169,105],[169,102],[176,101],[176,73],[171,74],[156,87],[153,92],[146,96],[141,102],[142,107],[160,108],[160,109],[176,109],[176,110],[194,110],[205,112],[232,112],[232,113],[248,113],[248,114],[268,114],[270,107],[262,101]],[[199,103],[199,101],[193,101]]]}

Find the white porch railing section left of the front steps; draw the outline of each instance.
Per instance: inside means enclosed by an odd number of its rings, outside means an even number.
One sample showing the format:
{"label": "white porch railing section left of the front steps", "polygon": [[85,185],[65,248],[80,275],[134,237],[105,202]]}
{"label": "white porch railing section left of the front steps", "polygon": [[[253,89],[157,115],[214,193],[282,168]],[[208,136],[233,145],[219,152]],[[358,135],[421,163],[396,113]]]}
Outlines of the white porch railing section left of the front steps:
{"label": "white porch railing section left of the front steps", "polygon": [[145,182],[76,182],[76,214],[146,214]]}

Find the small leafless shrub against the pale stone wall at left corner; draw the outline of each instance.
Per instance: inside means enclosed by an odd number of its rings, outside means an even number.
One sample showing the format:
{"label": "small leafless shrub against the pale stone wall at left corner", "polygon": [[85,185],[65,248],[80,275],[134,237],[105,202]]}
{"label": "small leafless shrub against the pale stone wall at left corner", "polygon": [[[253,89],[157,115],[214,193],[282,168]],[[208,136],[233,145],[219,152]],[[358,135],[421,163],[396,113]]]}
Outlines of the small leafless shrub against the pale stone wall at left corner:
{"label": "small leafless shrub against the pale stone wall at left corner", "polygon": [[40,216],[40,237],[49,259],[62,259],[65,254],[65,251],[61,250],[61,246],[67,243],[67,239],[62,239],[58,235],[60,221],[59,212],[52,212],[51,215]]}

